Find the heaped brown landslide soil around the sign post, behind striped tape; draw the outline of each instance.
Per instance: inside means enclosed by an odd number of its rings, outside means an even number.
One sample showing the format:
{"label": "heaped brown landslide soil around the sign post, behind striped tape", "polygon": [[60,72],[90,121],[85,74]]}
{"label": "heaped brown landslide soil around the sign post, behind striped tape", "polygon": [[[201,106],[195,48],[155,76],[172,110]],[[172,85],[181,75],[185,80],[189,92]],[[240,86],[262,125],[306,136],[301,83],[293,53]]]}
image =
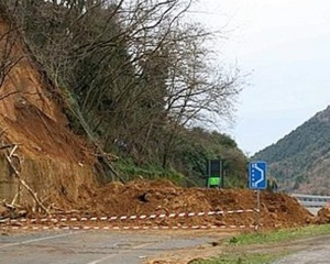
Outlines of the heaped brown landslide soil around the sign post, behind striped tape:
{"label": "heaped brown landslide soil around the sign post, behind striped tape", "polygon": [[[168,180],[138,180],[127,185],[111,183],[99,189],[79,191],[76,217],[150,216],[164,218],[125,220],[125,224],[157,226],[254,226],[256,194],[249,189],[180,188]],[[253,211],[250,211],[253,209]],[[234,212],[229,212],[233,210]],[[242,212],[235,212],[242,210]],[[188,212],[223,211],[212,216],[190,216]],[[178,213],[186,212],[185,217]],[[80,213],[80,215],[79,215]],[[168,217],[176,213],[176,217]],[[314,221],[312,215],[285,194],[262,191],[261,223],[266,228],[296,227]]]}

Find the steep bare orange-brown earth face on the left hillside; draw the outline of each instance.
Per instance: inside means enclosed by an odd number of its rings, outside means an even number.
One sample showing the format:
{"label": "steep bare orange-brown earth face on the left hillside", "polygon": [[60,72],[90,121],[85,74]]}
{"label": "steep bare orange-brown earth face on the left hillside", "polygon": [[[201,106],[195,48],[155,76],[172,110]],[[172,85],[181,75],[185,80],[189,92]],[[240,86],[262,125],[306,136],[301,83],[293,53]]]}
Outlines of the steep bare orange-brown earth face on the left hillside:
{"label": "steep bare orange-brown earth face on the left hillside", "polygon": [[[48,197],[48,202],[57,196],[75,200],[80,185],[95,184],[95,158],[67,128],[58,89],[0,12],[0,146],[16,145],[15,166],[40,197]],[[0,199],[11,199],[19,188],[4,158],[11,150],[0,151]],[[23,190],[21,202],[31,202],[28,197]]]}

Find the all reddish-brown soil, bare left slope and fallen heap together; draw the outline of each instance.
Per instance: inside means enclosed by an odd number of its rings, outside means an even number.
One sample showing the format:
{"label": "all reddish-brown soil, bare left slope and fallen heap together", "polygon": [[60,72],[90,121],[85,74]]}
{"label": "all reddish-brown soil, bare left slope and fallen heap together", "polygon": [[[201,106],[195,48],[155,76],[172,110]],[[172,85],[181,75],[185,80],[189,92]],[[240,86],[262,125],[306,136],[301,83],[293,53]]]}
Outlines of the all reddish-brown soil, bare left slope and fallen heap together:
{"label": "all reddish-brown soil, bare left slope and fallen heap together", "polygon": [[[0,50],[10,44],[6,55],[14,62],[1,82],[0,146],[18,146],[14,154],[20,160],[21,179],[53,215],[58,213],[58,208],[63,209],[62,215],[75,209],[73,215],[99,217],[223,210],[216,216],[165,217],[143,220],[139,224],[254,226],[260,222],[263,227],[276,228],[315,221],[294,198],[284,194],[262,191],[258,219],[255,211],[228,212],[256,208],[256,193],[246,189],[184,189],[167,180],[112,183],[98,188],[92,167],[96,158],[85,141],[67,128],[59,89],[38,69],[20,33],[10,30],[4,15],[0,18]],[[0,198],[9,201],[18,194],[18,180],[9,173],[3,155],[0,162]],[[33,205],[24,189],[20,201]],[[7,208],[0,209],[2,217],[20,216]],[[28,217],[34,216],[28,210]],[[131,222],[135,224],[134,221]]]}

